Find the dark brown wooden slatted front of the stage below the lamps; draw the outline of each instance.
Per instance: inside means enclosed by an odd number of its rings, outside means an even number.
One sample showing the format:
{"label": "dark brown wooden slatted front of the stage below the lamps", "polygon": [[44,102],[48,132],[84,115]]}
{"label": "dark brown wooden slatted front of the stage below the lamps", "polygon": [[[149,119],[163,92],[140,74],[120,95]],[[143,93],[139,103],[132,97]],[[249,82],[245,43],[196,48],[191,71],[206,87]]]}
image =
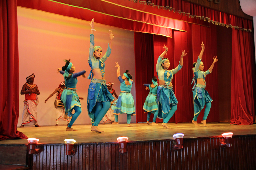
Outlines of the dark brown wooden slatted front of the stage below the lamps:
{"label": "dark brown wooden slatted front of the stage below the lamps", "polygon": [[39,146],[33,170],[77,169],[255,169],[256,136],[233,137],[232,148],[221,149],[223,138],[185,139],[184,149],[171,150],[174,141],[128,143],[127,153],[116,144],[74,145],[75,155],[66,155],[65,145]]}

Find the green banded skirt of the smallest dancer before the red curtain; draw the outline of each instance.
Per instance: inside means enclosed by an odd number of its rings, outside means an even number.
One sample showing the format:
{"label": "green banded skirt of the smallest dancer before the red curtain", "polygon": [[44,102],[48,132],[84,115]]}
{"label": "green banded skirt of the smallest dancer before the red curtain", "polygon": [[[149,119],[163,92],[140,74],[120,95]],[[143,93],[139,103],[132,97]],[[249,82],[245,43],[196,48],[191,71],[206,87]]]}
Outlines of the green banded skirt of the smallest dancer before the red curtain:
{"label": "green banded skirt of the smallest dancer before the red curtain", "polygon": [[158,101],[156,98],[156,94],[153,95],[149,93],[143,105],[143,110],[145,112],[152,112],[158,110]]}

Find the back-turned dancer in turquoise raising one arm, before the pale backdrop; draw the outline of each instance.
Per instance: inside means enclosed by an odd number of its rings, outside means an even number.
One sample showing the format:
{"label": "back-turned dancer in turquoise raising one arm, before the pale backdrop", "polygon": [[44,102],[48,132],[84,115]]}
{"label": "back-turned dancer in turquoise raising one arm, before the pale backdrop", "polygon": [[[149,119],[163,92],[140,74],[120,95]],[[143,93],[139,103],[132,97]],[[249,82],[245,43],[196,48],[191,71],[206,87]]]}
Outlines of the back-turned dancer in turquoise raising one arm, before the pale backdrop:
{"label": "back-turned dancer in turquoise raising one arm, before the pale backdrop", "polygon": [[114,110],[115,115],[115,122],[113,124],[118,124],[118,115],[122,113],[127,114],[127,126],[131,127],[131,117],[135,115],[135,107],[134,107],[134,100],[131,94],[131,88],[133,84],[132,76],[129,72],[129,70],[126,70],[126,72],[121,77],[120,75],[120,66],[118,62],[115,62],[117,67],[116,75],[118,77],[118,80],[120,81],[120,95],[118,99],[115,101],[116,105],[112,105],[111,109]]}

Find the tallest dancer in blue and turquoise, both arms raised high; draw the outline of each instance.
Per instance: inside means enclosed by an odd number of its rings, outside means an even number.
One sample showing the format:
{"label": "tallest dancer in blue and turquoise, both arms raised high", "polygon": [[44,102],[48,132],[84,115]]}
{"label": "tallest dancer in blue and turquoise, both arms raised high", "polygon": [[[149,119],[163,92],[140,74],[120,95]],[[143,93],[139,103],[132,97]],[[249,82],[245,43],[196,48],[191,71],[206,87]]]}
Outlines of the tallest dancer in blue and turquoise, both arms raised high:
{"label": "tallest dancer in blue and turquoise, both arms raised high", "polygon": [[87,110],[92,123],[91,131],[103,132],[98,128],[98,125],[106,112],[109,110],[110,102],[114,100],[114,97],[110,94],[106,86],[104,63],[111,53],[112,40],[114,35],[112,34],[112,31],[109,30],[109,46],[105,55],[102,56],[101,47],[94,47],[94,19],[92,19],[90,25],[91,34],[88,62],[91,67],[91,72],[88,76],[88,79],[91,79],[91,83],[88,89]]}

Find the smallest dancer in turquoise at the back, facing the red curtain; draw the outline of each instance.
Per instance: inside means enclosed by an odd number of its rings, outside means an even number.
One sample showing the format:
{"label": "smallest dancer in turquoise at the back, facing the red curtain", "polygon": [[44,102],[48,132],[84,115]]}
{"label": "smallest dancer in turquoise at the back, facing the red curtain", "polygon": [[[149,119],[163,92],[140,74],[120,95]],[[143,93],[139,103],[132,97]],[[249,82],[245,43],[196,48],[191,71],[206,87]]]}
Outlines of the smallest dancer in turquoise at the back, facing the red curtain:
{"label": "smallest dancer in turquoise at the back, facing the red curtain", "polygon": [[147,113],[147,124],[149,125],[149,119],[152,113],[154,114],[152,125],[158,125],[156,123],[156,117],[158,114],[158,101],[156,97],[158,83],[156,77],[153,77],[152,84],[144,84],[144,86],[146,86],[146,90],[149,89],[149,94],[147,95],[147,98],[143,105],[144,113]]}

